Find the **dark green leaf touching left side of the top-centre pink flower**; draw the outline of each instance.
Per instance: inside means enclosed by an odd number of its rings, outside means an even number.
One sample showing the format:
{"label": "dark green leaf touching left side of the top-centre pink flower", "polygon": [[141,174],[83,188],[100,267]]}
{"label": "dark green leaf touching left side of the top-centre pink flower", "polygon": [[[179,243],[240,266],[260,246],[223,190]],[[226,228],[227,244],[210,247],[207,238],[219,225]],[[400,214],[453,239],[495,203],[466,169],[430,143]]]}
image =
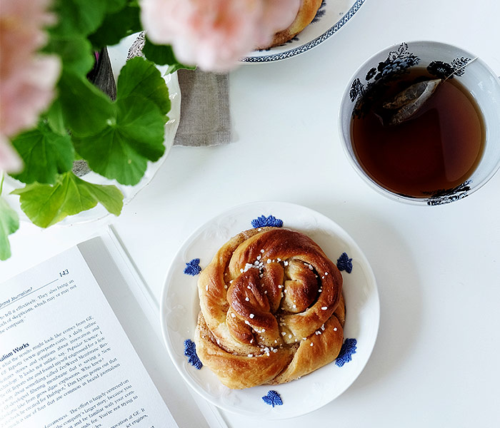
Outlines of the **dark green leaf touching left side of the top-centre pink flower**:
{"label": "dark green leaf touching left side of the top-centre pink flower", "polygon": [[127,5],[114,14],[106,15],[99,29],[89,36],[94,48],[99,50],[118,44],[124,37],[141,31],[140,11],[139,6]]}

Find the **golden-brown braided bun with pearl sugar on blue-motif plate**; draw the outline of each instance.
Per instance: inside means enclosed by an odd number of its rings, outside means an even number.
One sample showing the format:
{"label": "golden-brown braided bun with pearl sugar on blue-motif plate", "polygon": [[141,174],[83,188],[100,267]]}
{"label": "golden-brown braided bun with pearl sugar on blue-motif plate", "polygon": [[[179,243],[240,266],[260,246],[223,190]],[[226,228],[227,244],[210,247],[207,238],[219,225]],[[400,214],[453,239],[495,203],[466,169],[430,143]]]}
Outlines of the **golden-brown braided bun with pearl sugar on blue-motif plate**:
{"label": "golden-brown braided bun with pearl sugar on blue-motif plate", "polygon": [[289,382],[339,354],[341,273],[302,233],[239,233],[201,272],[198,287],[196,352],[227,387]]}

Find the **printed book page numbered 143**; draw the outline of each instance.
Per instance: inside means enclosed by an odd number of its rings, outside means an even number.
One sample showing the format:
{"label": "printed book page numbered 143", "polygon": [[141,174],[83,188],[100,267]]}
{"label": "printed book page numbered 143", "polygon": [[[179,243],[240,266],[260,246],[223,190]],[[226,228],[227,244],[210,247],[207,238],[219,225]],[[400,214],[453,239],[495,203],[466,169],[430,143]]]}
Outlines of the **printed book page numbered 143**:
{"label": "printed book page numbered 143", "polygon": [[177,427],[76,247],[0,285],[0,427]]}

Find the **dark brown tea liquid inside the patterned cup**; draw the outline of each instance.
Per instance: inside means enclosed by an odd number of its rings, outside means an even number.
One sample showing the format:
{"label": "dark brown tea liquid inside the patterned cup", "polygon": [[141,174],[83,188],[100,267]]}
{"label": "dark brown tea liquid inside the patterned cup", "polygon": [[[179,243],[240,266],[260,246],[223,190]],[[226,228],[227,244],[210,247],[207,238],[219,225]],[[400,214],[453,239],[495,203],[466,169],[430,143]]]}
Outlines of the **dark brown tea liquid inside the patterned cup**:
{"label": "dark brown tea liquid inside the patterned cup", "polygon": [[[388,108],[390,101],[416,83],[428,82],[436,84],[431,95],[414,113],[394,121],[404,105]],[[369,106],[361,106],[364,111],[352,118],[354,154],[366,174],[391,192],[426,198],[456,188],[479,165],[484,119],[474,98],[453,76],[436,79],[426,68],[414,67],[361,102]]]}

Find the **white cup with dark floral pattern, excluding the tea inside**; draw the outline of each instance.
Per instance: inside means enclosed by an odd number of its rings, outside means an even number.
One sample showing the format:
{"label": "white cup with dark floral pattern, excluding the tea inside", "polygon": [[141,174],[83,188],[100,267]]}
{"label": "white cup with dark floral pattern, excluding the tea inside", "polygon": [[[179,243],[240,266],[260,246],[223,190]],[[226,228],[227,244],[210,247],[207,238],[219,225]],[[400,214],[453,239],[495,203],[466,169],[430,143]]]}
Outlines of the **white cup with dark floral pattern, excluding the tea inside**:
{"label": "white cup with dark floral pattern, excluding the tea inside", "polygon": [[[486,131],[484,150],[472,175],[458,185],[426,197],[394,193],[377,183],[363,169],[356,157],[351,138],[354,110],[366,89],[390,73],[406,73],[411,67],[444,64],[444,70],[458,71],[458,79],[479,106]],[[428,68],[429,69],[429,68]],[[436,71],[435,69],[432,71]],[[354,169],[379,193],[394,200],[417,205],[441,205],[464,198],[481,188],[500,167],[500,78],[489,66],[463,49],[434,41],[414,41],[390,46],[369,58],[349,81],[340,106],[339,126],[344,150]]]}

